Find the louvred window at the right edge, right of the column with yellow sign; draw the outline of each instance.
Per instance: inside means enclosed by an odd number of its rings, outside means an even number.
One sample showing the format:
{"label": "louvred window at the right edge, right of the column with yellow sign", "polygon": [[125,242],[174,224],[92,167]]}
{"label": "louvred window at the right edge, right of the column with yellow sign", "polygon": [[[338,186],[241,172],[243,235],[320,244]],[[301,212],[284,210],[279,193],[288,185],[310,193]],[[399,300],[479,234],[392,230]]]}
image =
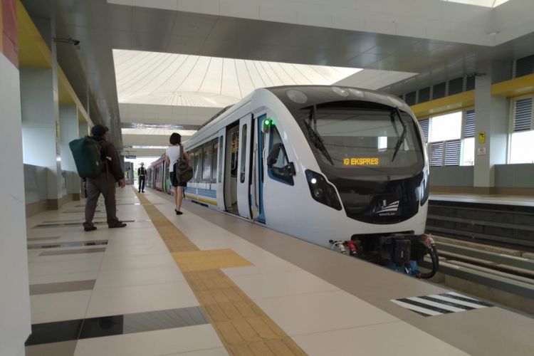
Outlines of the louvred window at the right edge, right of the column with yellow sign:
{"label": "louvred window at the right edge, right of the column with yellow sign", "polygon": [[534,163],[533,105],[533,96],[512,102],[512,132],[508,163]]}

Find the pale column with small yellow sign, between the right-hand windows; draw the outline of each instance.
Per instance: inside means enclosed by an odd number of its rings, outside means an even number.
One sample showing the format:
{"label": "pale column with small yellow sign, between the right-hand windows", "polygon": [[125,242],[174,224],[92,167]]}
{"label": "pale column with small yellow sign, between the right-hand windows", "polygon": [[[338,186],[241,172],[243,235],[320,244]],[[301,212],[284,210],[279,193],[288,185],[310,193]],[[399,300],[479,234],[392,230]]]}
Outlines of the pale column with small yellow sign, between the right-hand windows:
{"label": "pale column with small yellow sign, between the right-hand windows", "polygon": [[[495,193],[495,165],[506,163],[508,142],[508,100],[491,95],[492,72],[496,64],[481,63],[475,81],[475,167],[474,190]],[[496,70],[497,69],[497,70]],[[482,135],[481,135],[482,134]],[[482,137],[483,136],[483,137]]]}

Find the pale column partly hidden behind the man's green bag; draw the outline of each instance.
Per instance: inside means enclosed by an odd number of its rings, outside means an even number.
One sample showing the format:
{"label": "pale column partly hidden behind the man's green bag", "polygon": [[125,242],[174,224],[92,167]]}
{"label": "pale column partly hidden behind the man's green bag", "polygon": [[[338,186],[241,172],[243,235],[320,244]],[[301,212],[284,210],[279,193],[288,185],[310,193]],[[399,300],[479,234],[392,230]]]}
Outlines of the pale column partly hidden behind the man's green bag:
{"label": "pale column partly hidden behind the man's green bag", "polygon": [[78,108],[75,105],[60,105],[59,127],[61,139],[61,169],[65,178],[67,194],[80,200],[80,177],[68,142],[78,138]]}

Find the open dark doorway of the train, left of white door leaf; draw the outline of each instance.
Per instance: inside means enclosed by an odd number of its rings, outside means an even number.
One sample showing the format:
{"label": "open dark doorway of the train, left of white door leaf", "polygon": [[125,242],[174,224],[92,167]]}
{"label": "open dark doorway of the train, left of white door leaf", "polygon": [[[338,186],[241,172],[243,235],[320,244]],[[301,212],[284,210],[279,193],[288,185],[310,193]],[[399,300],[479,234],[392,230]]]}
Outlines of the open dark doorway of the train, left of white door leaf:
{"label": "open dark doorway of the train, left of white door leaf", "polygon": [[237,206],[237,179],[239,163],[239,122],[226,128],[224,157],[224,207],[231,214],[239,214]]}

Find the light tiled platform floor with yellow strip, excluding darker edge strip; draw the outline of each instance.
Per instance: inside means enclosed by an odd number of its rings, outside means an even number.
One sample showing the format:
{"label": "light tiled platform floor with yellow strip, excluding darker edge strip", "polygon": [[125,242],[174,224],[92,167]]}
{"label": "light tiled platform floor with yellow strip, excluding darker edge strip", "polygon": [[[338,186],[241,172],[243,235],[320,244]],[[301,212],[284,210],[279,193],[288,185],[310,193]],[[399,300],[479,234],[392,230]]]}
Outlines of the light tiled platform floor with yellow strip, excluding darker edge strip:
{"label": "light tiled platform floor with yellow strip, excluding darker edge strip", "polygon": [[[465,355],[192,214],[187,204],[176,216],[167,199],[147,191],[143,204],[130,187],[117,191],[118,216],[135,220],[124,229],[34,227],[81,221],[80,202],[28,219],[28,244],[108,244],[28,250],[30,281],[41,290],[31,295],[32,323],[45,336],[27,355]],[[164,219],[179,231],[167,234]],[[61,253],[41,254],[51,251]],[[179,321],[162,310],[203,310],[206,319],[174,328]],[[132,328],[131,320],[146,323]],[[66,338],[46,343],[47,330]]]}

